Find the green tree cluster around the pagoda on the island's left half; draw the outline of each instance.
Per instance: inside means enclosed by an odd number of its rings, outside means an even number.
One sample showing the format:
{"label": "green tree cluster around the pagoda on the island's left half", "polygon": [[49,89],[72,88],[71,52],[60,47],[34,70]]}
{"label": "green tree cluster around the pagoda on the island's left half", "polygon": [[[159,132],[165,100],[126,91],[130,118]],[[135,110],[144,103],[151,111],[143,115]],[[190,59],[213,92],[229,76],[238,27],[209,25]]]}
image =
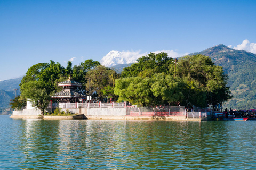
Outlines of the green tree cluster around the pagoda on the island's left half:
{"label": "green tree cluster around the pagoda on the island's left half", "polygon": [[99,65],[98,61],[93,60],[86,60],[74,67],[69,61],[66,68],[53,61],[35,64],[28,69],[25,77],[21,80],[21,95],[11,101],[11,108],[20,109],[24,105],[24,100],[29,99],[41,110],[43,115],[51,100],[51,95],[61,90],[58,86],[59,82],[67,80],[71,74],[75,81],[82,83],[81,90],[86,91],[86,75]]}

